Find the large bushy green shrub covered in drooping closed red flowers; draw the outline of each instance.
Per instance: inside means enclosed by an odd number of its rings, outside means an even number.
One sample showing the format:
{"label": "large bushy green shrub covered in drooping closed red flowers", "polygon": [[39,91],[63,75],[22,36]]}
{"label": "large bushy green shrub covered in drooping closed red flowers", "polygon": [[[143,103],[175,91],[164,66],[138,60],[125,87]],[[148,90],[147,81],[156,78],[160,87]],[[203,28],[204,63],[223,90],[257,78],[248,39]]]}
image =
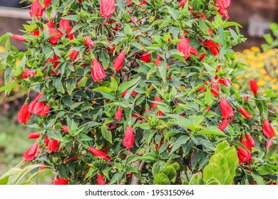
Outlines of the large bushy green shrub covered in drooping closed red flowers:
{"label": "large bushy green shrub covered in drooping closed red flowers", "polygon": [[[36,132],[26,164],[51,168],[53,184],[176,184],[198,171],[206,183],[277,181],[274,97],[232,84],[232,46],[244,38],[229,5],[34,0],[24,34],[0,38],[0,90],[38,92],[18,114]],[[11,36],[28,50],[11,48]]]}

